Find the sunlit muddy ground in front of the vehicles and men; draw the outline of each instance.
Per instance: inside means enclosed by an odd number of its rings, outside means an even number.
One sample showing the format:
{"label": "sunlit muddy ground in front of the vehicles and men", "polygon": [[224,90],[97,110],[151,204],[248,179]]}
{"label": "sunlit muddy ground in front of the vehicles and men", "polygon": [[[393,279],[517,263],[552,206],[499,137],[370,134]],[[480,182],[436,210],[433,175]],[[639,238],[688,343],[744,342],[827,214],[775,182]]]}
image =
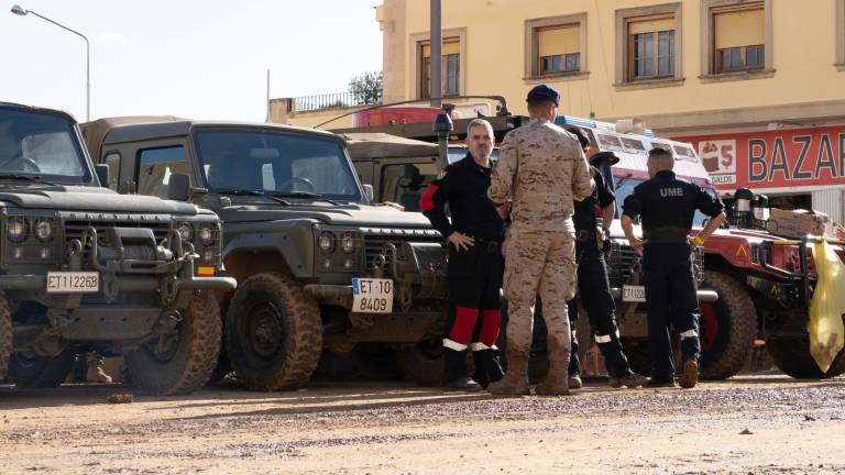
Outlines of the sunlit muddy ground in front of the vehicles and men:
{"label": "sunlit muddy ground in front of the vehicles and men", "polygon": [[0,387],[2,474],[845,473],[845,379],[501,398],[397,382]]}

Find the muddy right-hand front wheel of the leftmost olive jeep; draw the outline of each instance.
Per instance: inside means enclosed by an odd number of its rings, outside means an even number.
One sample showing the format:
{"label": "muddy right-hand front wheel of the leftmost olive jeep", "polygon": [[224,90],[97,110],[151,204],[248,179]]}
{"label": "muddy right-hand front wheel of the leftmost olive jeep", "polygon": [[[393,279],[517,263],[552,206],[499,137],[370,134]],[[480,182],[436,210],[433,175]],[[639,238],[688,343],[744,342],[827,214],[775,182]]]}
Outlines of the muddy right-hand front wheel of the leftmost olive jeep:
{"label": "muddy right-hand front wheel of the leftmost olive jeep", "polygon": [[185,395],[205,385],[220,354],[220,325],[215,297],[197,292],[174,333],[124,355],[132,383],[157,395]]}

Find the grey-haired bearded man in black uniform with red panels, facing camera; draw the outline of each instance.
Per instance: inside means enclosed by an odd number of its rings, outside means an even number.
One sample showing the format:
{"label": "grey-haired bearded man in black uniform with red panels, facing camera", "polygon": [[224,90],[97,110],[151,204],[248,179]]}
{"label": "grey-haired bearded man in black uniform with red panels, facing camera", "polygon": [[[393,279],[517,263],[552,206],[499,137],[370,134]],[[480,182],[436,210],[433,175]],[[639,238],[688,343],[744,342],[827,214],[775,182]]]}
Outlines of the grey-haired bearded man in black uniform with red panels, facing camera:
{"label": "grey-haired bearded man in black uniform with red panels, facing camera", "polygon": [[[419,200],[420,211],[449,241],[449,325],[443,339],[447,387],[475,390],[504,376],[494,344],[501,327],[500,303],[507,208],[487,198],[493,128],[476,119],[467,130],[467,156],[449,165]],[[446,214],[449,205],[452,222]],[[475,379],[467,371],[472,341]]]}

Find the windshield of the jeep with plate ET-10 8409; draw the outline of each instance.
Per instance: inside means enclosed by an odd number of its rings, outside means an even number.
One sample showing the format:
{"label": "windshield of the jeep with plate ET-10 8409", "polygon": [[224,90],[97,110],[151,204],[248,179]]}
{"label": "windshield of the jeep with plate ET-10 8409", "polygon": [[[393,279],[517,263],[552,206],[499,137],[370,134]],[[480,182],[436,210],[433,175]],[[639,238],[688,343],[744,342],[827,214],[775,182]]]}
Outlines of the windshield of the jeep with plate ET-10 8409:
{"label": "windshield of the jeep with plate ET-10 8409", "polygon": [[199,129],[206,184],[220,194],[361,201],[341,145],[329,137],[266,129]]}

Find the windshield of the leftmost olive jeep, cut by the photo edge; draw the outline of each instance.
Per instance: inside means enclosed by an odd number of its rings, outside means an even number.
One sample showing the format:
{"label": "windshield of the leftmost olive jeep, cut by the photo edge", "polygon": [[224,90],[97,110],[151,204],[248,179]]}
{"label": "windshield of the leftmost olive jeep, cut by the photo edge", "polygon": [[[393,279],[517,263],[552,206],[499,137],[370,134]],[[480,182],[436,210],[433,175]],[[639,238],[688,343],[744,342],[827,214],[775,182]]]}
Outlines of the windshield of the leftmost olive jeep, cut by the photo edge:
{"label": "windshield of the leftmost olive jeep, cut by the photo edge", "polygon": [[0,108],[0,178],[88,183],[88,164],[68,118]]}

